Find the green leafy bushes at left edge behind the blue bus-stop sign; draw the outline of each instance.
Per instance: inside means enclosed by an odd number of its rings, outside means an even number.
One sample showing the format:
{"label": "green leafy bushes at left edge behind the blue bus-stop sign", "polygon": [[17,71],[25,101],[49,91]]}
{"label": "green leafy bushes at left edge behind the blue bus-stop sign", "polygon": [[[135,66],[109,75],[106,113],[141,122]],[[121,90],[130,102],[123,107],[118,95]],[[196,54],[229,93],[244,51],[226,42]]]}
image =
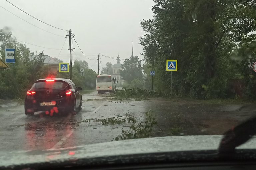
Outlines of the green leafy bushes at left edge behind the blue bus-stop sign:
{"label": "green leafy bushes at left edge behind the blue bus-stop sign", "polygon": [[31,58],[29,49],[16,41],[8,28],[0,30],[1,52],[0,58],[5,60],[5,48],[16,49],[16,63],[8,64],[10,68],[0,69],[0,93],[1,99],[24,99],[26,91],[41,77],[48,75],[48,67],[43,65],[43,52]]}

